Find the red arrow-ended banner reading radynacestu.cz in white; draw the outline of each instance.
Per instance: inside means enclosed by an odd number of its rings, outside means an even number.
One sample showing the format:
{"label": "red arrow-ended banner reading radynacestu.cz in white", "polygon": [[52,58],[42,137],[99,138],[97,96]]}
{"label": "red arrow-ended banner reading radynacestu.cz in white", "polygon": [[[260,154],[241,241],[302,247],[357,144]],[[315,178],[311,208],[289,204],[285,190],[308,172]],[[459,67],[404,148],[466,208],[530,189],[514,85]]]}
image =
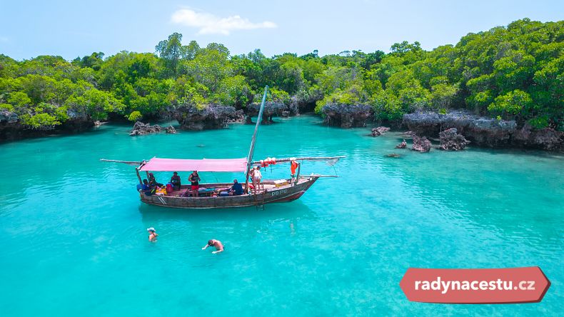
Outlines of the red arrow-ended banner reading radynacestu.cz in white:
{"label": "red arrow-ended banner reading radynacestu.cz in white", "polygon": [[424,303],[538,303],[550,281],[527,268],[408,268],[400,282],[409,301]]}

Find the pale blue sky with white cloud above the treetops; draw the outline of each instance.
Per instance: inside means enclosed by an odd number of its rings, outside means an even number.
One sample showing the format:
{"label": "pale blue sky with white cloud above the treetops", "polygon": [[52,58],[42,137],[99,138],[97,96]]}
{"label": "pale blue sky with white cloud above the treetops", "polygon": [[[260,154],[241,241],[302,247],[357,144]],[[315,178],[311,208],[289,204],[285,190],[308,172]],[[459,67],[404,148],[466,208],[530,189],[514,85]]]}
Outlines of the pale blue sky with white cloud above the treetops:
{"label": "pale blue sky with white cloud above the treetops", "polygon": [[433,49],[523,17],[559,21],[564,1],[0,0],[0,16],[0,54],[20,60],[153,52],[175,31],[184,44],[218,42],[231,54],[258,48],[266,56],[314,49],[325,55],[388,51],[403,40]]}

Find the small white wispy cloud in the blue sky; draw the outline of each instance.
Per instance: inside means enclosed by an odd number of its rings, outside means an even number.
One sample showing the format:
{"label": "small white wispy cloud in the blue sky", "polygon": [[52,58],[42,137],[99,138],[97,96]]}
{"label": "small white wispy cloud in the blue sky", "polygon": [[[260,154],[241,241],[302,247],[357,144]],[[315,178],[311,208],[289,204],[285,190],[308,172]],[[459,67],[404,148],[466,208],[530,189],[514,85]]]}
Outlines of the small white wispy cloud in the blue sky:
{"label": "small white wispy cloud in the blue sky", "polygon": [[196,12],[190,9],[180,9],[172,14],[171,21],[199,28],[198,34],[223,34],[229,35],[234,30],[273,29],[276,24],[271,21],[253,23],[241,16],[228,16],[221,18],[206,12]]}

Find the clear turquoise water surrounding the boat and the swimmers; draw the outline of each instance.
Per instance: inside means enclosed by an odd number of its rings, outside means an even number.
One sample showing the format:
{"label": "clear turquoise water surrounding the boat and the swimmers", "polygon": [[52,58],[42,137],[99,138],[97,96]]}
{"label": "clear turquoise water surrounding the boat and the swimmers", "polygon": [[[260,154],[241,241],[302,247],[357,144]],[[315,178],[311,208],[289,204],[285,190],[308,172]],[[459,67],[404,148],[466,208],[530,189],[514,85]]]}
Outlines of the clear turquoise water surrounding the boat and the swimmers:
{"label": "clear turquoise water surrounding the boat and the swimmers", "polygon": [[[131,137],[129,126],[0,145],[2,316],[558,315],[564,156],[396,150],[314,116],[262,126],[256,158],[346,155],[293,203],[220,211],[146,206],[134,168],[99,158],[240,158],[253,126]],[[402,154],[386,158],[385,154]],[[288,176],[289,166],[263,171]],[[165,180],[168,173],[157,173]],[[187,173],[181,173],[186,181]],[[231,181],[234,173],[201,173]],[[159,233],[148,243],[146,228]],[[217,238],[226,251],[201,251]],[[541,303],[412,303],[408,267],[540,266]]]}

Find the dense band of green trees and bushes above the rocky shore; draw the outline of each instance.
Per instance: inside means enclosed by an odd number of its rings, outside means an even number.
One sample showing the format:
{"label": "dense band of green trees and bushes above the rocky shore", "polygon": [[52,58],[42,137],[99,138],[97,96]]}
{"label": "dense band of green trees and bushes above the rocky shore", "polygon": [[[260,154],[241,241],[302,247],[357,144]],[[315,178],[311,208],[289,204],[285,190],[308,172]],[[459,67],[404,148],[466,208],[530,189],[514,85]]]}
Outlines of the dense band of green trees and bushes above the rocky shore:
{"label": "dense band of green trees and bushes above the rocky shore", "polygon": [[370,104],[378,119],[430,109],[470,109],[564,130],[564,21],[522,19],[468,34],[455,46],[394,44],[389,54],[343,51],[318,56],[260,50],[231,56],[221,44],[182,45],[175,33],[156,54],[101,52],[66,61],[0,55],[0,111],[22,124],[51,129],[74,118],[158,118],[178,106],[244,108],[260,98],[309,106]]}

